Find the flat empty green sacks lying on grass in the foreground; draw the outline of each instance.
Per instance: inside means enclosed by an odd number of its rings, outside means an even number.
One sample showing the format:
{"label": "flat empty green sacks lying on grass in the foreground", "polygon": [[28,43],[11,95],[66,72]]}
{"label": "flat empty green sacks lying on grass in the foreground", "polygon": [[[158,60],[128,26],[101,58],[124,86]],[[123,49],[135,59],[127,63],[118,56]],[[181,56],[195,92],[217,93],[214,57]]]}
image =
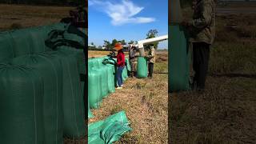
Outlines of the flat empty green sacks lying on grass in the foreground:
{"label": "flat empty green sacks lying on grass in the foreground", "polygon": [[121,111],[106,118],[104,121],[94,122],[88,126],[88,143],[110,144],[118,141],[122,134],[131,130],[126,113]]}

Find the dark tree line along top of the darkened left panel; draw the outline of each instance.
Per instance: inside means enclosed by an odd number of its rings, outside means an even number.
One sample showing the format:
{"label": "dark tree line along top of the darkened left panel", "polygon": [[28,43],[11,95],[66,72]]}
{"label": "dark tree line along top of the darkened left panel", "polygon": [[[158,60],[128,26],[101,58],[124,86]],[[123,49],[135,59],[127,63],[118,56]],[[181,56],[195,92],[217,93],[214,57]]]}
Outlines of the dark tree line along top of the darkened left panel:
{"label": "dark tree line along top of the darkened left panel", "polygon": [[87,0],[0,0],[6,4],[27,4],[27,5],[57,5],[57,6],[87,6]]}

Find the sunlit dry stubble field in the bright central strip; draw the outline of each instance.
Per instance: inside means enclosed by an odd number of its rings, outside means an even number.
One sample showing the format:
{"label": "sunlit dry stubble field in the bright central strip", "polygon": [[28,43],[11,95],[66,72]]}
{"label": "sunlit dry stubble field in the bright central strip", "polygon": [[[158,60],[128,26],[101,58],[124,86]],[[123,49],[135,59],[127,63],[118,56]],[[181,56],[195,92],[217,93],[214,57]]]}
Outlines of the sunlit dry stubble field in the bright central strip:
{"label": "sunlit dry stubble field in the bright central strip", "polygon": [[[89,57],[108,53],[90,51]],[[121,110],[126,111],[133,130],[116,143],[167,143],[167,53],[157,53],[154,78],[128,78],[122,90],[116,90],[103,99],[99,109],[91,110],[94,118],[90,122],[97,122]]]}

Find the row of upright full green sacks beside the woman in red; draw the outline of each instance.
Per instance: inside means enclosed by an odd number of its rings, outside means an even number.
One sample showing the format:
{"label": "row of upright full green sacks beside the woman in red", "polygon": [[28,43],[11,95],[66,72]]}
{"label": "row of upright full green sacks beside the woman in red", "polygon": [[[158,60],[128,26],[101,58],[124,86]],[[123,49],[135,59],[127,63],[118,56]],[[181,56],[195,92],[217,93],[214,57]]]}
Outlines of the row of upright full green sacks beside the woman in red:
{"label": "row of upright full green sacks beside the woman in red", "polygon": [[[91,108],[98,108],[102,98],[114,93],[117,85],[115,66],[116,59],[110,57],[90,58],[88,60],[88,102]],[[122,79],[128,78],[130,64],[126,58],[126,66],[122,71]],[[88,115],[89,112],[88,112]]]}

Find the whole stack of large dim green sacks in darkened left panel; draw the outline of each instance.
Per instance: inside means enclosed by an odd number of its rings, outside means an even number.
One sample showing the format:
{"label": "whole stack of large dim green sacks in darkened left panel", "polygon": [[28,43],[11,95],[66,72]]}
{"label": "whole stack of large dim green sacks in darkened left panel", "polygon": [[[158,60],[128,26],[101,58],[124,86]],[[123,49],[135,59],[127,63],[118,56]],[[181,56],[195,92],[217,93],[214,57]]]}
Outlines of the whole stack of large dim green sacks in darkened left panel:
{"label": "whole stack of large dim green sacks in darkened left panel", "polygon": [[65,32],[64,41],[82,43],[68,26],[0,33],[1,143],[62,144],[63,137],[85,137],[83,50],[46,46],[52,30]]}

